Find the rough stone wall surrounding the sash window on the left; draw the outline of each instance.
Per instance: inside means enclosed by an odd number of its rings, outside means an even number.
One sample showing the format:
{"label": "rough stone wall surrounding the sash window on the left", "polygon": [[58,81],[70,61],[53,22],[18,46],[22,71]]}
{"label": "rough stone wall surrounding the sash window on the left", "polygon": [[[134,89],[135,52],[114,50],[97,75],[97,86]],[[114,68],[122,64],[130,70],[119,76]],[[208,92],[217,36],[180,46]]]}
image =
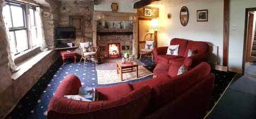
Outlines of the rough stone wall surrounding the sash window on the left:
{"label": "rough stone wall surrounding the sash window on the left", "polygon": [[[31,0],[25,0],[25,2]],[[43,0],[35,0],[42,2]],[[45,6],[43,11],[49,11],[49,17],[43,17],[43,27],[46,44],[49,48],[53,48],[53,28],[58,23],[58,1],[44,1]],[[2,13],[2,6],[4,0],[0,0],[0,13]],[[53,6],[53,7],[49,7]],[[53,50],[50,54],[42,58],[38,63],[33,65],[30,70],[21,75],[17,80],[12,80],[12,74],[9,70],[10,45],[9,39],[3,21],[3,16],[0,14],[0,118],[4,118],[12,109],[18,104],[19,100],[27,93],[27,91],[34,86],[40,77],[49,69],[49,67],[59,58],[58,52]]]}

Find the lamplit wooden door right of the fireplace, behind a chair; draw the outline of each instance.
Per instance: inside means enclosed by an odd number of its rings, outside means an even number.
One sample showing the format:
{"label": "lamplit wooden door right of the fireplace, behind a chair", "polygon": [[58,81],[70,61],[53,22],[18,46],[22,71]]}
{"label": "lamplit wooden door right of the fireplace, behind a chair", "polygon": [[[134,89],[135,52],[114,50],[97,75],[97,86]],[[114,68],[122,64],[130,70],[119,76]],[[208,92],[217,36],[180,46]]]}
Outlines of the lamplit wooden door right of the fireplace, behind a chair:
{"label": "lamplit wooden door right of the fireplace, behind a chair", "polygon": [[[151,18],[138,18],[138,56],[140,54],[140,43],[144,41],[144,37],[149,32],[149,24]],[[144,41],[145,42],[145,41]]]}

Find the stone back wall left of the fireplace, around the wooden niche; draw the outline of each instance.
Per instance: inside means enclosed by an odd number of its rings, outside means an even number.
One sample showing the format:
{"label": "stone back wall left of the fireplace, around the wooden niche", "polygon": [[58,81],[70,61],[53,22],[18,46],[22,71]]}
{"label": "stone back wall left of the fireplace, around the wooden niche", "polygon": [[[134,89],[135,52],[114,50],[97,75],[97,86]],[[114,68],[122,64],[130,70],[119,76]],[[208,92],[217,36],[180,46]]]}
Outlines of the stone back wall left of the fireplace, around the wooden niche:
{"label": "stone back wall left of the fireplace, around the wooden niche", "polygon": [[[83,36],[92,42],[92,18],[93,1],[61,1],[60,2],[60,26],[69,26],[69,16],[83,16]],[[79,46],[81,36],[76,36],[73,43]],[[77,52],[79,53],[79,52]]]}

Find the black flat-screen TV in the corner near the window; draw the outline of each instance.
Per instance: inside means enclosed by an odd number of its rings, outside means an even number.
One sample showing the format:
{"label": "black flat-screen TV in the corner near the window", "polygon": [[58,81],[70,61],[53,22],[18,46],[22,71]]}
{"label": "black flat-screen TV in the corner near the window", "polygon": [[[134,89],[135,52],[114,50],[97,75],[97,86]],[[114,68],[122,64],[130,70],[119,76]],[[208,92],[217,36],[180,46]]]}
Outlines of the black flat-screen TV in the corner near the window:
{"label": "black flat-screen TV in the corner near the window", "polygon": [[55,39],[75,39],[75,27],[57,27],[55,31]]}

